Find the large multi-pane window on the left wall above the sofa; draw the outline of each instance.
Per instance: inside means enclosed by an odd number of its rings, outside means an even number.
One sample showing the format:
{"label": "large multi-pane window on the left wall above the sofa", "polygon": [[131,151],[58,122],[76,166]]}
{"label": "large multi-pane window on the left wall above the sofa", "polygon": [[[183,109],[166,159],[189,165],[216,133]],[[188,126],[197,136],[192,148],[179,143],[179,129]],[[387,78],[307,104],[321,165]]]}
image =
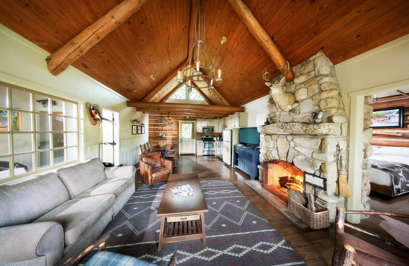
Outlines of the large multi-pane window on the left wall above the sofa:
{"label": "large multi-pane window on the left wall above the sofa", "polygon": [[0,83],[0,179],[78,160],[78,105]]}

